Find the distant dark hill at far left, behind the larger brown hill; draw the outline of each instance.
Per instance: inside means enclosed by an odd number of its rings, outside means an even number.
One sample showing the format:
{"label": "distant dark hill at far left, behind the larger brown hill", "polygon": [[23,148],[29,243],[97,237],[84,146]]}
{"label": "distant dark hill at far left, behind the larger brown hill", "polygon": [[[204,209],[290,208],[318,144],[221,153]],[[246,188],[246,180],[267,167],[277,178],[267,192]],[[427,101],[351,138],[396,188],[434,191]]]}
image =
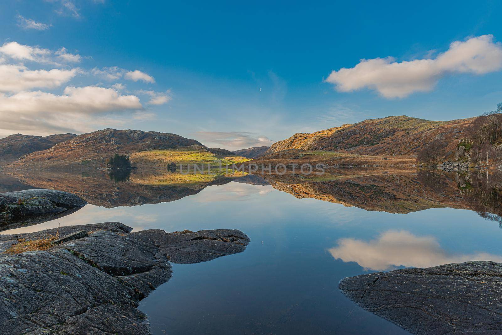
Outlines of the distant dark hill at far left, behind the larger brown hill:
{"label": "distant dark hill at far left, behind the larger brown hill", "polygon": [[14,162],[25,154],[48,149],[75,136],[77,135],[59,134],[42,137],[14,134],[0,138],[0,166]]}

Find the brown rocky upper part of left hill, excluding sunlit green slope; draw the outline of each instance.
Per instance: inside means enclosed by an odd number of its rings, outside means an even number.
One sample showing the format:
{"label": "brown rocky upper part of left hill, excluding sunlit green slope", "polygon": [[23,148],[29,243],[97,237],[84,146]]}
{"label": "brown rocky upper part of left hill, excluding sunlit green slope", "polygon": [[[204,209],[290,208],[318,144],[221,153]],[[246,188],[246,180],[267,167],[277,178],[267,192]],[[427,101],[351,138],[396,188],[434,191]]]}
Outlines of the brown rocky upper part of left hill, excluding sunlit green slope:
{"label": "brown rocky upper part of left hill, excluding sunlit green slope", "polygon": [[103,129],[58,143],[21,157],[6,169],[74,169],[103,166],[114,153],[132,154],[153,149],[200,145],[195,139],[157,131]]}

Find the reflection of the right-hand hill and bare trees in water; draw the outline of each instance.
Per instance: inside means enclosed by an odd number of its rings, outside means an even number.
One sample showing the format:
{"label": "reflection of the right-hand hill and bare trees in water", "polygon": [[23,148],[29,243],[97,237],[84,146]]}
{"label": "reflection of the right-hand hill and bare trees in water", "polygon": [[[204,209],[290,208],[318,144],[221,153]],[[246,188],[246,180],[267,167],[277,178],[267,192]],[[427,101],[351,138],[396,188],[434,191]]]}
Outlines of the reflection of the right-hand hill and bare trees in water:
{"label": "reflection of the right-hand hill and bare trees in water", "polygon": [[[309,181],[265,175],[275,189],[296,198],[315,198],[368,211],[412,213],[429,208],[469,209],[502,222],[502,173],[408,171],[388,173],[352,171],[355,176]],[[362,176],[361,176],[362,175]]]}

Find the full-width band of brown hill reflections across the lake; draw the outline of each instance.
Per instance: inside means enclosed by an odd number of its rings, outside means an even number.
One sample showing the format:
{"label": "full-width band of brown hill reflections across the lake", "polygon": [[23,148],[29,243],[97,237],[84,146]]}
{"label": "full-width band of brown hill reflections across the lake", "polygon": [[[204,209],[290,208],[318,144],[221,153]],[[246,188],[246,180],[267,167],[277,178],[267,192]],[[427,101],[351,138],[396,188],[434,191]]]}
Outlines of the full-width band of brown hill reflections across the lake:
{"label": "full-width band of brown hill reflections across the lake", "polygon": [[488,220],[502,222],[502,173],[475,171],[399,171],[340,169],[322,179],[302,175],[182,175],[137,173],[131,170],[94,174],[19,171],[0,174],[2,192],[30,188],[66,191],[89,204],[114,208],[176,201],[209,186],[232,181],[271,185],[296,198],[315,198],[367,211],[411,213],[429,208],[469,209]]}

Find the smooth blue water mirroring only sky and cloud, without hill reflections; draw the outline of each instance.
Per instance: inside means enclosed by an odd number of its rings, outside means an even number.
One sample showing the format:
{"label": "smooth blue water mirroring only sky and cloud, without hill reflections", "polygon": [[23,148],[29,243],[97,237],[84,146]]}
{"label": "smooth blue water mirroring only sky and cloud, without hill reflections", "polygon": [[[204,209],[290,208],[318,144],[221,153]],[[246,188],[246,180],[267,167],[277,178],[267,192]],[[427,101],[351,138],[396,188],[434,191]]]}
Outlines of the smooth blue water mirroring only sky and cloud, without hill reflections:
{"label": "smooth blue water mirroring only sky and cloud, without hill reflections", "polygon": [[345,298],[339,280],[402,267],[502,262],[502,230],[469,210],[390,214],[237,182],[173,202],[87,205],[2,233],[105,221],[135,231],[239,229],[251,240],[239,254],[173,264],[173,278],[140,303],[154,334],[407,333]]}

